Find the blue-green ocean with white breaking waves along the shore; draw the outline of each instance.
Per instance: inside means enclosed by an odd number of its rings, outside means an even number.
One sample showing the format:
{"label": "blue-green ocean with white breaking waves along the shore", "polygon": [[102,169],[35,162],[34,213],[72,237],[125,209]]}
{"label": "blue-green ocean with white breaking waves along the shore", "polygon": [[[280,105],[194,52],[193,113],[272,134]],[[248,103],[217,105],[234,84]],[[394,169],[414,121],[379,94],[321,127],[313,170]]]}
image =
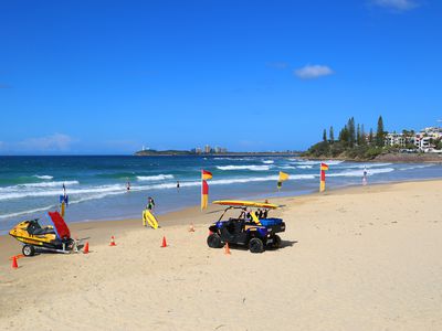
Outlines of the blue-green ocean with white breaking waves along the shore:
{"label": "blue-green ocean with white breaking waves along the shore", "polygon": [[[368,184],[442,178],[442,166],[434,163],[324,162],[328,189],[361,185],[364,168]],[[46,217],[59,207],[63,184],[67,222],[140,217],[148,196],[158,214],[198,205],[201,169],[213,173],[209,201],[271,200],[319,185],[319,161],[287,157],[0,157],[0,234],[20,221]],[[290,174],[281,191],[278,171]]]}

